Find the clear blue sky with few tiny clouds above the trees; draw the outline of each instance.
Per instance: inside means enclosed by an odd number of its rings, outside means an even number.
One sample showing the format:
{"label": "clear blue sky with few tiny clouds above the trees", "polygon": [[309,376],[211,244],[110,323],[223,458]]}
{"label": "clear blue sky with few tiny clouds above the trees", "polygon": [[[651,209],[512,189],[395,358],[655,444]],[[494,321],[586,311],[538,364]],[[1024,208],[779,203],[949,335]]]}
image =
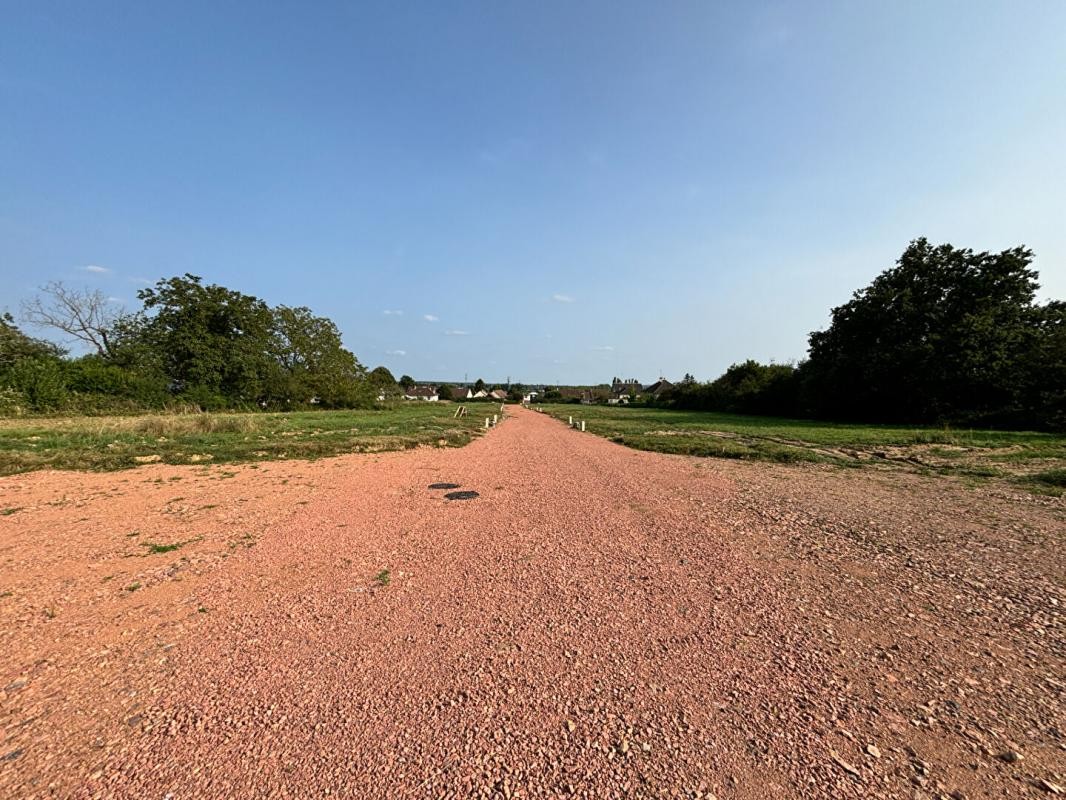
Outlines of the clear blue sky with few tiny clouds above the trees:
{"label": "clear blue sky with few tiny clouds above the trees", "polygon": [[1066,298],[1066,3],[0,0],[0,309],[193,272],[398,375],[707,379],[923,235]]}

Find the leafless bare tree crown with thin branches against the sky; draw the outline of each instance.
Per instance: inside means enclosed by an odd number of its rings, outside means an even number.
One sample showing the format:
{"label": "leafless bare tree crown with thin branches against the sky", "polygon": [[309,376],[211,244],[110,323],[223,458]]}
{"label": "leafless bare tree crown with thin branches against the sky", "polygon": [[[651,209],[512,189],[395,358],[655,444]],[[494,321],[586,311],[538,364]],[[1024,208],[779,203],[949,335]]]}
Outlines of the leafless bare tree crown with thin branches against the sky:
{"label": "leafless bare tree crown with thin branches against the sky", "polygon": [[39,294],[22,303],[22,319],[37,327],[51,327],[96,349],[102,356],[112,355],[109,335],[122,316],[99,289],[71,289],[52,281]]}

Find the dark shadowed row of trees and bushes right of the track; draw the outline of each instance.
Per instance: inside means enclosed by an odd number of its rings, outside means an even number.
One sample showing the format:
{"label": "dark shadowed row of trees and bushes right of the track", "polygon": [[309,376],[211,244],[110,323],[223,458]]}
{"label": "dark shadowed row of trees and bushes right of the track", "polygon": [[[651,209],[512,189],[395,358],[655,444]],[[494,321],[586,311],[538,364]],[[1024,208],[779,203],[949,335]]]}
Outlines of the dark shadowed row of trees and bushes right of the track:
{"label": "dark shadowed row of trees and bushes right of the track", "polygon": [[831,311],[798,365],[687,377],[678,409],[867,422],[1066,429],[1066,303],[1036,302],[1033,253],[912,241]]}

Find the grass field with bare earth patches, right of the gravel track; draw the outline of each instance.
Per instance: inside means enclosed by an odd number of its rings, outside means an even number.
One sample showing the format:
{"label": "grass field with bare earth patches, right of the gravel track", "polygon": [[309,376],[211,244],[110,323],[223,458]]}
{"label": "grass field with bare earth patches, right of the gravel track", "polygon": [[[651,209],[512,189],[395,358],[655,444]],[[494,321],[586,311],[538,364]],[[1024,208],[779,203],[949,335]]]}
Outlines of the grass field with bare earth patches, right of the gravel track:
{"label": "grass field with bare earth patches, right of the gravel track", "polygon": [[1066,487],[1066,436],[1025,431],[837,425],[712,412],[544,405],[586,430],[641,450],[777,462],[884,464],[971,477],[1006,477],[1034,491]]}

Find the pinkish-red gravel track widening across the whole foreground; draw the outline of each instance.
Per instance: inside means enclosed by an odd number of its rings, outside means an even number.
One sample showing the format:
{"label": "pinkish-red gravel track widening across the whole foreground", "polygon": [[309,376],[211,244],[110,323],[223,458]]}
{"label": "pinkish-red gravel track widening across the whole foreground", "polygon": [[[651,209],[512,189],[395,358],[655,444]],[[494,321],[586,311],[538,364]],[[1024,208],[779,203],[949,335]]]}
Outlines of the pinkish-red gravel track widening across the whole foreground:
{"label": "pinkish-red gravel track widening across the whole foreground", "polygon": [[524,410],[463,449],[0,498],[4,798],[1066,785],[1062,500]]}

